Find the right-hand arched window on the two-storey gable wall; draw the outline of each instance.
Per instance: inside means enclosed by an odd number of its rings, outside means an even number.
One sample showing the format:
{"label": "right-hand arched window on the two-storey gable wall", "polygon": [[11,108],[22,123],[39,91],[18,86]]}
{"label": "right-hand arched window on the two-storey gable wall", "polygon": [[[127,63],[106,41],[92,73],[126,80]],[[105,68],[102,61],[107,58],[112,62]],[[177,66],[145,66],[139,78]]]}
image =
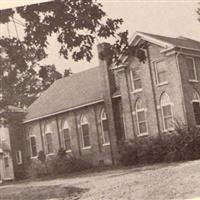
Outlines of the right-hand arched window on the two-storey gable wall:
{"label": "right-hand arched window on the two-storey gable wall", "polygon": [[160,98],[162,121],[164,131],[173,129],[173,114],[172,114],[172,103],[167,93],[163,93]]}

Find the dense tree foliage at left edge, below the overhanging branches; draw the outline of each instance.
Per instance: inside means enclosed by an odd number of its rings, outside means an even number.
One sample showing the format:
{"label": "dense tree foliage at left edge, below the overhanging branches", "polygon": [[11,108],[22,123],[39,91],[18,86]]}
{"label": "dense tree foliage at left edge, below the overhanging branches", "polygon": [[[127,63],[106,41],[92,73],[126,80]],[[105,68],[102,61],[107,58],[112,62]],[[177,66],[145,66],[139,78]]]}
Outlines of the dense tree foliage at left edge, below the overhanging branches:
{"label": "dense tree foliage at left edge, below the overhanging branches", "polygon": [[[29,47],[16,38],[0,39],[0,88],[3,88],[2,105],[28,106],[38,93],[47,89],[52,82],[62,77],[55,66],[42,66],[47,76],[39,75],[38,62],[46,57],[42,49]],[[50,78],[51,76],[51,78]]]}

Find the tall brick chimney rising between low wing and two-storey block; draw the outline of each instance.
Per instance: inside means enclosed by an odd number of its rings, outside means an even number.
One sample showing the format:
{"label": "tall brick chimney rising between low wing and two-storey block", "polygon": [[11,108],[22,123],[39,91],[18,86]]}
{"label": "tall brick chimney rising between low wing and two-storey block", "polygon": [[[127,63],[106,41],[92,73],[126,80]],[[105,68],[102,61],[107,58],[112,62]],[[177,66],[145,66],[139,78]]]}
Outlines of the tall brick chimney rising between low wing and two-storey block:
{"label": "tall brick chimney rising between low wing and two-storey block", "polygon": [[97,49],[99,56],[101,82],[103,88],[103,98],[108,118],[112,163],[116,164],[118,160],[118,149],[117,149],[116,126],[114,120],[113,100],[112,100],[112,94],[115,91],[116,86],[115,86],[114,74],[110,70],[112,64],[110,45],[108,43],[101,43],[97,46]]}

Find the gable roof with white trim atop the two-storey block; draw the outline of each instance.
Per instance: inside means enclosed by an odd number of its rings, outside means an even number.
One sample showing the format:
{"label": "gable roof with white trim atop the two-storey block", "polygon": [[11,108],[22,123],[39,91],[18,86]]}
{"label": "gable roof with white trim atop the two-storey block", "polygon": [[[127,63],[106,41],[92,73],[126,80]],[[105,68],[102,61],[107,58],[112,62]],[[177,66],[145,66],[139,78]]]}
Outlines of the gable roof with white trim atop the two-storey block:
{"label": "gable roof with white trim atop the two-storey block", "polygon": [[145,33],[145,32],[136,32],[131,40],[133,42],[136,37],[139,36],[143,38],[144,40],[148,39],[154,39],[157,40],[158,42],[161,42],[161,44],[165,44],[165,47],[181,47],[181,48],[186,48],[186,49],[195,49],[195,50],[200,50],[200,41],[193,40],[190,38],[186,37],[167,37],[167,36],[162,36],[162,35],[156,35],[156,34],[151,34],[151,33]]}

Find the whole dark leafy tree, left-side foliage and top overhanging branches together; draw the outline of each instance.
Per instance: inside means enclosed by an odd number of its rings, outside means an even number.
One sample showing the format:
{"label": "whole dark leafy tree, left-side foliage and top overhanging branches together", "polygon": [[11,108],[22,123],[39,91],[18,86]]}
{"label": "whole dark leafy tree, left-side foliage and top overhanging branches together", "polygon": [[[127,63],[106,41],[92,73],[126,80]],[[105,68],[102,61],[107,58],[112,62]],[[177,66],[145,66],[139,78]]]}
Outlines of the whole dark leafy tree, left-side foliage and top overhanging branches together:
{"label": "whole dark leafy tree, left-side foliage and top overhanging branches together", "polygon": [[[16,10],[1,10],[0,15],[3,17],[1,17],[0,23],[5,24],[15,20],[15,13],[18,13],[25,20],[24,40],[1,38],[1,42],[13,64],[12,69],[9,69],[10,65],[7,65],[8,70],[6,69],[9,76],[12,75],[13,80],[15,80],[11,85],[16,87],[16,82],[19,85],[21,81],[19,88],[24,92],[21,92],[22,96],[26,94],[27,86],[29,91],[38,92],[38,88],[32,84],[36,80],[34,67],[39,60],[47,56],[45,51],[48,47],[48,37],[52,34],[57,35],[57,41],[61,44],[59,53],[66,59],[70,56],[74,61],[81,59],[90,61],[93,56],[92,47],[95,39],[109,37],[115,38],[109,51],[113,62],[120,63],[118,58],[122,54],[136,53],[141,60],[144,59],[144,53],[141,51],[138,53],[138,48],[129,46],[128,31],[118,31],[123,20],[107,17],[102,5],[97,1],[54,0],[19,7]],[[13,53],[15,50],[17,50],[16,54]],[[24,74],[28,74],[25,76],[26,78],[23,76]],[[44,89],[52,83],[55,74],[57,73],[55,73],[53,66],[40,67],[39,76],[44,78]],[[24,78],[19,79],[19,76]],[[32,78],[34,81],[29,82]],[[17,89],[15,94],[17,94]]]}

